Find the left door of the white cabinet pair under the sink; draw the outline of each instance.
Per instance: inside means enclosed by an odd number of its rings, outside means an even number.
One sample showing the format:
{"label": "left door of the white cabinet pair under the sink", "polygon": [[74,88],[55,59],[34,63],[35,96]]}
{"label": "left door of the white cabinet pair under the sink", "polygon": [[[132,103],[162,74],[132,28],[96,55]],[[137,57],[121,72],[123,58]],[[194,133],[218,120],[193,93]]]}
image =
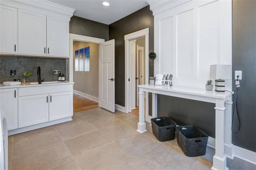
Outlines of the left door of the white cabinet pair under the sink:
{"label": "left door of the white cabinet pair under the sink", "polygon": [[19,97],[19,128],[48,121],[48,94]]}

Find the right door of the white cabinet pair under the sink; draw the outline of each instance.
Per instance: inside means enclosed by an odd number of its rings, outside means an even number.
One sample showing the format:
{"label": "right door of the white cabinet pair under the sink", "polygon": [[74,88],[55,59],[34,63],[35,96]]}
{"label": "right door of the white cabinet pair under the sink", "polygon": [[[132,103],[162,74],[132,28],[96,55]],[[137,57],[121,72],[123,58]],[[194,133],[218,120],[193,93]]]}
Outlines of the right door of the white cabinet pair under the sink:
{"label": "right door of the white cabinet pair under the sink", "polygon": [[50,121],[73,116],[73,92],[51,93],[49,103]]}

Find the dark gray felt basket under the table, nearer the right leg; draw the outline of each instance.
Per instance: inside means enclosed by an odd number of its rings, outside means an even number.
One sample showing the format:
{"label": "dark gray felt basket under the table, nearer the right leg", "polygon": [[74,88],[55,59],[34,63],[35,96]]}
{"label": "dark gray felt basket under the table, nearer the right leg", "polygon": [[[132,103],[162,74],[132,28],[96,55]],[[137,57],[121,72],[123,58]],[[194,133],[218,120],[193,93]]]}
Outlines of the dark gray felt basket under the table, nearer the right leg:
{"label": "dark gray felt basket under the table, nearer the right leg", "polygon": [[177,142],[187,157],[205,155],[208,135],[196,126],[177,126]]}

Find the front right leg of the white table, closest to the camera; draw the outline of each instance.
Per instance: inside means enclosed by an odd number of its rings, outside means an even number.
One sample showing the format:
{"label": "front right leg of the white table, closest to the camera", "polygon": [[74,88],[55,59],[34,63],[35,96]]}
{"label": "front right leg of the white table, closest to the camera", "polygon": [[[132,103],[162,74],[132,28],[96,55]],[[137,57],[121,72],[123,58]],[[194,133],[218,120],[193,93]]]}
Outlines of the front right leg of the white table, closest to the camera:
{"label": "front right leg of the white table, closest to the camera", "polygon": [[228,170],[227,159],[224,155],[224,100],[216,99],[215,105],[215,155],[213,170]]}

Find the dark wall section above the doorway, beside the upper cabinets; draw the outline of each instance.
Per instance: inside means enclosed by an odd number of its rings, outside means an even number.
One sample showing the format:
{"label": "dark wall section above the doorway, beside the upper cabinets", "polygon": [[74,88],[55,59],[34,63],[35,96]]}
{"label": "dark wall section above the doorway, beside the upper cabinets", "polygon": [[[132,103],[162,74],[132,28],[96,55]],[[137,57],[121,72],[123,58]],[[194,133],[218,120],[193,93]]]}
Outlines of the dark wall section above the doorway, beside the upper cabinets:
{"label": "dark wall section above the doorway, beside the upper cabinets", "polygon": [[102,38],[108,41],[108,25],[87,20],[78,16],[72,16],[69,22],[69,33]]}

